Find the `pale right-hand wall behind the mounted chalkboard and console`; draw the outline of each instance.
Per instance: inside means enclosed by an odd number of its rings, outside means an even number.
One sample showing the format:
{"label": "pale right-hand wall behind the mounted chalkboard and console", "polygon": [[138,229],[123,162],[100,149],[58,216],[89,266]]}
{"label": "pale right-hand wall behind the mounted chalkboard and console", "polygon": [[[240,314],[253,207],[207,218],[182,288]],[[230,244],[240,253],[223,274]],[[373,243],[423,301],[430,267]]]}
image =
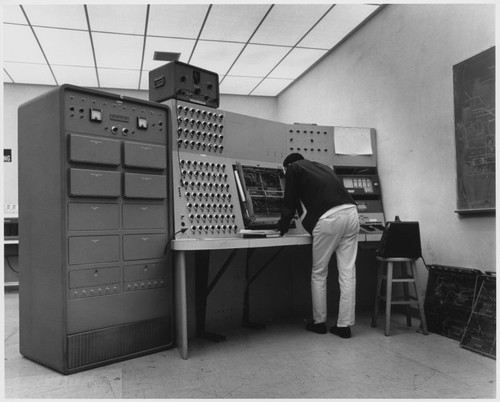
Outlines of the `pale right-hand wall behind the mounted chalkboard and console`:
{"label": "pale right-hand wall behind the mounted chalkboard and console", "polygon": [[454,212],[452,76],[494,28],[493,5],[389,5],[278,100],[281,121],[376,129],[386,218],[420,222],[427,263],[496,270],[495,218]]}

